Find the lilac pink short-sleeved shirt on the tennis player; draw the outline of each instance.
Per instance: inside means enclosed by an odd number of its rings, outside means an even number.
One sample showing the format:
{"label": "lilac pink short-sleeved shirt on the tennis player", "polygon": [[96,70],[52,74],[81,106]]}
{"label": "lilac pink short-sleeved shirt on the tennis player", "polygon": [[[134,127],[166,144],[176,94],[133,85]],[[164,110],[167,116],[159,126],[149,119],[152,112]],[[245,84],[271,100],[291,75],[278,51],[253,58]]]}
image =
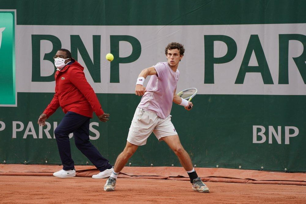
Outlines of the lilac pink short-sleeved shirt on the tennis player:
{"label": "lilac pink short-sleeved shirt on the tennis player", "polygon": [[138,107],[154,112],[164,119],[170,115],[173,94],[177,87],[180,72],[178,69],[174,72],[168,62],[159,62],[153,67],[157,76],[151,76],[146,87],[147,91],[141,98]]}

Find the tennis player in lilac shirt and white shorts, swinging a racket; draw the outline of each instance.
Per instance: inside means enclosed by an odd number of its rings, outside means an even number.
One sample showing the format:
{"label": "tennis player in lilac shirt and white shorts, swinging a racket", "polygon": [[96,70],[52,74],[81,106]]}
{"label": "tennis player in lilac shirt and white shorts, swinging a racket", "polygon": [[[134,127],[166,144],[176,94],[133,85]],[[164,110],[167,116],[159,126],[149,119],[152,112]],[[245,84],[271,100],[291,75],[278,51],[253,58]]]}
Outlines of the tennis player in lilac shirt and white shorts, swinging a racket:
{"label": "tennis player in lilac shirt and white shorts, swinging a racket", "polygon": [[[135,94],[143,96],[136,108],[127,138],[125,149],[119,154],[113,172],[104,185],[104,191],[114,191],[116,179],[129,158],[137,148],[147,143],[149,135],[153,132],[159,141],[165,141],[174,151],[181,165],[187,171],[192,189],[208,193],[208,187],[203,184],[192,166],[188,153],[181,145],[177,132],[171,122],[172,102],[185,107],[186,110],[192,102],[176,95],[177,81],[180,72],[177,67],[184,56],[184,46],[180,43],[169,43],[165,54],[167,62],[159,62],[156,65],[140,72],[135,88]],[[143,86],[147,76],[151,76],[147,87]]]}

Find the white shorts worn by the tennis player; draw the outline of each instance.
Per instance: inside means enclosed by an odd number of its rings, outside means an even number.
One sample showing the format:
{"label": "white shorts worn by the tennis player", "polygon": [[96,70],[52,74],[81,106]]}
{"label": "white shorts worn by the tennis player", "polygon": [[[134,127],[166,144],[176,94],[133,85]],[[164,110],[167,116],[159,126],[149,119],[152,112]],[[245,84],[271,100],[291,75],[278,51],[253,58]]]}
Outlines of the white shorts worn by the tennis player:
{"label": "white shorts worn by the tennis player", "polygon": [[162,137],[177,135],[171,115],[162,119],[156,113],[137,107],[129,129],[128,142],[138,146],[145,145],[152,132],[159,141]]}

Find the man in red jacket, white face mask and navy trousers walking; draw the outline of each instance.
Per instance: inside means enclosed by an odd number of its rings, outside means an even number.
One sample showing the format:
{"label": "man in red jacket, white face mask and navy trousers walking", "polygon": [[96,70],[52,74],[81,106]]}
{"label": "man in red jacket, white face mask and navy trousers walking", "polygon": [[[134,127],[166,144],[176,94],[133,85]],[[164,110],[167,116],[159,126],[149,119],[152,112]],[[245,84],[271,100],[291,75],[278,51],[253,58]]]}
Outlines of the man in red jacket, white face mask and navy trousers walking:
{"label": "man in red jacket, white face mask and navy trousers walking", "polygon": [[108,177],[113,172],[112,165],[89,141],[89,119],[94,111],[100,121],[106,122],[109,114],[103,112],[95,92],[85,78],[84,67],[71,57],[70,51],[60,49],[53,58],[57,68],[55,94],[38,119],[38,124],[44,126],[47,118],[59,106],[65,113],[65,117],[54,130],[63,169],[53,176],[66,178],[76,175],[69,142],[69,134],[73,133],[76,147],[100,170],[99,174],[92,177]]}

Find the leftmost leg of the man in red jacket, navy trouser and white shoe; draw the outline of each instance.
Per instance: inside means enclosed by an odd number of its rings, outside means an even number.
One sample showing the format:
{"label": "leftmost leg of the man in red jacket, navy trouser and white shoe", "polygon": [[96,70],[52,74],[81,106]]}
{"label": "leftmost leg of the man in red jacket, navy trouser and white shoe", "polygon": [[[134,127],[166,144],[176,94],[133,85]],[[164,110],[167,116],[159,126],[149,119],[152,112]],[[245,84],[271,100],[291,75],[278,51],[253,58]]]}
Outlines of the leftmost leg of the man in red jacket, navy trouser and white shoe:
{"label": "leftmost leg of the man in red jacket, navy trouser and white shoe", "polygon": [[54,130],[58,145],[58,152],[63,164],[63,169],[53,175],[61,178],[75,176],[74,161],[71,158],[69,134],[79,128],[87,118],[77,113],[68,111],[60,124]]}

